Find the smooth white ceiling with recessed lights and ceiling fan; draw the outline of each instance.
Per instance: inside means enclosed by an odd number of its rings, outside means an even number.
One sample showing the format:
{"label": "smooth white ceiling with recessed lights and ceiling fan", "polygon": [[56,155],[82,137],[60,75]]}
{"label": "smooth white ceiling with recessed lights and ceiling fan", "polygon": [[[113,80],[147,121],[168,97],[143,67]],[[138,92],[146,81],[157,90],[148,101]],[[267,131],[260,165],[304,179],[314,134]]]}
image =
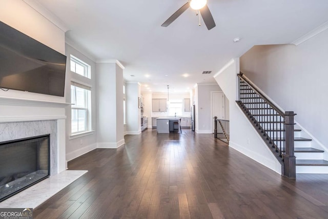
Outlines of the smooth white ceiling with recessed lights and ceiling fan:
{"label": "smooth white ceiling with recessed lights and ceiling fan", "polygon": [[[198,26],[187,0],[37,0],[69,29],[66,37],[95,59],[118,59],[127,82],[143,91],[187,92],[254,45],[289,44],[328,21],[328,1],[208,0],[216,27]],[[233,39],[240,37],[238,43]],[[212,71],[211,74],[202,74]],[[134,75],[134,76],[132,76]]]}

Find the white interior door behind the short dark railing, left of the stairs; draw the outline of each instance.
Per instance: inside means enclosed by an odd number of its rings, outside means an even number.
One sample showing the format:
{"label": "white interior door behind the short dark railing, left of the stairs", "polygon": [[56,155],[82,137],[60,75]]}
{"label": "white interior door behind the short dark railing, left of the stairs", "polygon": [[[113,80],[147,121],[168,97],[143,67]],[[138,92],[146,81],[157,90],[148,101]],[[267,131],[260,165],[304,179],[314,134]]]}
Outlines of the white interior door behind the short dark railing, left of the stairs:
{"label": "white interior door behind the short dark railing, left of the stairs", "polygon": [[214,116],[224,120],[224,94],[212,92],[212,132],[214,133]]}

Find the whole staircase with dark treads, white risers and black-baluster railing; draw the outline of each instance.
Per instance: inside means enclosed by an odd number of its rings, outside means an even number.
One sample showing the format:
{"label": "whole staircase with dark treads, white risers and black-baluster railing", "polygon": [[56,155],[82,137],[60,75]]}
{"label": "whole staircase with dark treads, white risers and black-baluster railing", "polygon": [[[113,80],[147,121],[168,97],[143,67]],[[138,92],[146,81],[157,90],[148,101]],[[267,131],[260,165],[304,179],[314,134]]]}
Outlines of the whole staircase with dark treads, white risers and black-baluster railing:
{"label": "whole staircase with dark treads, white risers and black-baluster railing", "polygon": [[282,165],[282,174],[294,171],[293,168],[289,170],[293,161],[287,164],[284,161],[290,157],[293,160],[294,154],[296,173],[328,173],[328,161],[323,160],[324,150],[313,147],[311,137],[294,126],[295,114],[277,108],[242,73],[238,77],[239,101],[236,102]]}

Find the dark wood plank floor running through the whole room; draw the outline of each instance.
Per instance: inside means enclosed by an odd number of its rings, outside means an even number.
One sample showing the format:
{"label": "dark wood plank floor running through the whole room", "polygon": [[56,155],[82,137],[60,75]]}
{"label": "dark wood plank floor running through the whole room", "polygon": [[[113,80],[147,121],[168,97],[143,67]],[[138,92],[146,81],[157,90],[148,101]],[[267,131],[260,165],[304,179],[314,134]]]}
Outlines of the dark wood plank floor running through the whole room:
{"label": "dark wood plank floor running through the whole room", "polygon": [[69,162],[89,170],[34,218],[328,218],[328,175],[289,180],[211,134],[126,135]]}

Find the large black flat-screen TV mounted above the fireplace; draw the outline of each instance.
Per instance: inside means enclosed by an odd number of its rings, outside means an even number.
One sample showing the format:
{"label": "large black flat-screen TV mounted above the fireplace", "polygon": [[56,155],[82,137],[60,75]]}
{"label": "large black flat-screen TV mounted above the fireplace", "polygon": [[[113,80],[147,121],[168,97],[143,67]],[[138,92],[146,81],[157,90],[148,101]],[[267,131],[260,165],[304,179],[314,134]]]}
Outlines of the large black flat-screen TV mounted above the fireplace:
{"label": "large black flat-screen TV mounted above the fireplace", "polygon": [[65,70],[65,55],[0,22],[1,88],[64,96]]}

